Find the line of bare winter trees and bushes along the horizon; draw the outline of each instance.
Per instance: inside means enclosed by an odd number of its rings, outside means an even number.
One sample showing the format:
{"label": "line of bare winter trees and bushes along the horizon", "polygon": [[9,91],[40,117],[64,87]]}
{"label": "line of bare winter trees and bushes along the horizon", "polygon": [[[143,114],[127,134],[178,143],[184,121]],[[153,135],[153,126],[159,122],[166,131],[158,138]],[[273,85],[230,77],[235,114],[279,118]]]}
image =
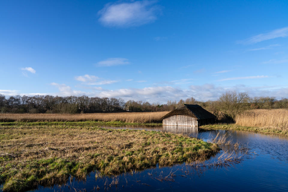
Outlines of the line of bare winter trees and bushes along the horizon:
{"label": "line of bare winter trees and bushes along the horizon", "polygon": [[186,100],[168,101],[167,104],[149,103],[122,98],[88,96],[59,97],[51,95],[10,96],[0,94],[0,113],[97,113],[97,112],[156,112],[171,111],[181,104],[198,104],[217,118],[235,119],[238,113],[249,109],[288,108],[288,99],[274,97],[249,97],[247,92],[227,91],[216,101]]}

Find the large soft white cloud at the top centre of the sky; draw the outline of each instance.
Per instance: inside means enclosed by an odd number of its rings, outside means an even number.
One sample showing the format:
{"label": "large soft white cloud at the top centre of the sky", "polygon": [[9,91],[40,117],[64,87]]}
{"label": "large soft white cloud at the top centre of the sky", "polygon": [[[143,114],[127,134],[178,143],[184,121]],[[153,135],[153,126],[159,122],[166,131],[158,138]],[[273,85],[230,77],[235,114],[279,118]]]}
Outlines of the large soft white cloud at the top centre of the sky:
{"label": "large soft white cloud at the top centre of the sky", "polygon": [[106,4],[98,12],[99,21],[105,26],[140,26],[157,19],[161,11],[156,1],[135,1],[131,3]]}

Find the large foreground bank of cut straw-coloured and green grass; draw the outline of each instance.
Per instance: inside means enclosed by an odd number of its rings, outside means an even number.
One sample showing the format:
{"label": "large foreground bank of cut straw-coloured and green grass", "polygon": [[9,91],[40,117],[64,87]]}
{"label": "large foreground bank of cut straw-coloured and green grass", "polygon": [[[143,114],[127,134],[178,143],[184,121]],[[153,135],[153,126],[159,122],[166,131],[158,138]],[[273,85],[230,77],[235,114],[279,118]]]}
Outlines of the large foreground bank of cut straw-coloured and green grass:
{"label": "large foreground bank of cut straw-coloured and green grass", "polygon": [[114,175],[207,159],[216,144],[181,134],[101,129],[95,126],[1,126],[0,184],[3,191],[50,186],[93,170]]}

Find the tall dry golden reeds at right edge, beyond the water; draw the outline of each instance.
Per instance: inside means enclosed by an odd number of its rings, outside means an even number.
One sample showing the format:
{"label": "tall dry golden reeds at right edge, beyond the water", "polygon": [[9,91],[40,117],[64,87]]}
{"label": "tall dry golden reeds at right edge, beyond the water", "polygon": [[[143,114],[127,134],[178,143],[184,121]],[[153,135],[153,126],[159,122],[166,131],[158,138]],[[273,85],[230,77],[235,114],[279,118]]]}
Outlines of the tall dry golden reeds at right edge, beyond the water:
{"label": "tall dry golden reeds at right edge, beyond the water", "polygon": [[288,130],[288,110],[250,110],[236,117],[236,124],[249,127],[266,127]]}

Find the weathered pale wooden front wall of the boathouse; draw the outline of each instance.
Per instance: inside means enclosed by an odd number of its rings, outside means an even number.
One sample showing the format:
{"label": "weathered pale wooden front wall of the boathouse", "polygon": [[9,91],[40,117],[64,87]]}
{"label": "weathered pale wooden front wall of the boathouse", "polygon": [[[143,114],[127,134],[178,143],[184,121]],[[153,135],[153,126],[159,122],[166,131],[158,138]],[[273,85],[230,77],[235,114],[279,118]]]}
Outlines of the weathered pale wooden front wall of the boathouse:
{"label": "weathered pale wooden front wall of the boathouse", "polygon": [[163,119],[163,125],[198,126],[197,119],[185,115],[174,115]]}

